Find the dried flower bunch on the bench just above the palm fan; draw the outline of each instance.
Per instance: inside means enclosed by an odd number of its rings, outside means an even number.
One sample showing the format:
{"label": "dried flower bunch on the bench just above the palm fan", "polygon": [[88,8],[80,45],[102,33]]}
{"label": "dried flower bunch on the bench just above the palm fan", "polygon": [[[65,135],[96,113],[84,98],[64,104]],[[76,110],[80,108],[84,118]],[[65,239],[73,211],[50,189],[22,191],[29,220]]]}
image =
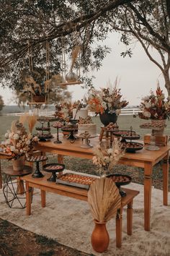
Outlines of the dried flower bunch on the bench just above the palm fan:
{"label": "dried flower bunch on the bench just above the palm fan", "polygon": [[112,148],[108,147],[105,142],[101,142],[94,148],[93,163],[99,166],[100,174],[112,173],[113,166],[125,154],[122,143],[116,137],[112,142]]}

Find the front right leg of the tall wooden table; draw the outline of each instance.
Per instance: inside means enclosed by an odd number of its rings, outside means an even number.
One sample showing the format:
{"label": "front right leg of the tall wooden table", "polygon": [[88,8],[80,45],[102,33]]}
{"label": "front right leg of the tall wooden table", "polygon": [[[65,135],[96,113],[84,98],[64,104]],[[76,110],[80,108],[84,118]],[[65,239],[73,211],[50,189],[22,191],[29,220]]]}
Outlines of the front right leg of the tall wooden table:
{"label": "front right leg of the tall wooden table", "polygon": [[144,229],[150,230],[151,219],[151,188],[152,188],[152,169],[151,163],[145,163],[144,168]]}

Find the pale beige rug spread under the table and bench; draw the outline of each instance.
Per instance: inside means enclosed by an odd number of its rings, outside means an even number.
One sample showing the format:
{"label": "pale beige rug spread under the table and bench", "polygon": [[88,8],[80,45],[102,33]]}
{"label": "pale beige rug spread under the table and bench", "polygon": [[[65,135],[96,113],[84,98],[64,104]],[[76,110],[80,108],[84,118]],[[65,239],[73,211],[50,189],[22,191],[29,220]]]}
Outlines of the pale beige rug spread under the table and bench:
{"label": "pale beige rug spread under the table and bench", "polygon": [[[115,219],[107,223],[109,248],[99,254],[91,247],[94,223],[87,202],[47,192],[46,207],[41,208],[40,191],[35,190],[32,215],[26,209],[10,209],[0,189],[0,218],[22,229],[48,236],[68,247],[94,255],[122,256],[168,256],[170,255],[170,206],[163,206],[162,191],[152,189],[151,231],[143,229],[143,185],[126,186],[140,191],[133,203],[133,235],[126,234],[126,210],[122,214],[122,247],[115,245]],[[170,194],[170,193],[169,193]],[[170,195],[169,195],[170,196]]]}

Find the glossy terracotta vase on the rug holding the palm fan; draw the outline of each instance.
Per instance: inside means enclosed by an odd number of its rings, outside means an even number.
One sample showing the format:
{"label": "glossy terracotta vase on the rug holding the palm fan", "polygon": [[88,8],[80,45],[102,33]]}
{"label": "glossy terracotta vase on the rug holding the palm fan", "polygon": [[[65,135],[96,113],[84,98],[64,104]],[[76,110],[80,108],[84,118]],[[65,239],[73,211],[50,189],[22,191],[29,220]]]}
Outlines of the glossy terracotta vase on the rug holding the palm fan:
{"label": "glossy terracotta vase on the rug holding the palm fan", "polygon": [[96,252],[104,252],[109,246],[109,234],[106,229],[106,222],[94,221],[94,231],[91,234],[91,245]]}

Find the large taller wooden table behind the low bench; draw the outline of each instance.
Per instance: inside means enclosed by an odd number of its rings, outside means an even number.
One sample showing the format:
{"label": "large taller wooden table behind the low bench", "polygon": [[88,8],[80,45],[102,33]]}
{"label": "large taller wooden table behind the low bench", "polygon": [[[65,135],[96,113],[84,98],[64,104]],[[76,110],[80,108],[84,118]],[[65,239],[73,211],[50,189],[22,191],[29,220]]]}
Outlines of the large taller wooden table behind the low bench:
{"label": "large taller wooden table behind the low bench", "polygon": [[[62,136],[62,135],[60,135]],[[50,142],[39,142],[36,145],[36,150],[41,150],[43,153],[56,153],[58,154],[58,162],[63,161],[63,155],[69,155],[79,158],[93,158],[93,148],[80,148],[81,140],[76,140],[74,143],[69,142],[66,138],[62,138],[63,143],[54,144],[53,140]],[[99,138],[91,139],[92,145],[99,144]],[[152,171],[153,166],[161,160],[163,171],[163,202],[168,205],[168,179],[169,179],[169,150],[170,145],[160,147],[160,150],[149,151],[143,150],[136,151],[136,153],[125,153],[119,163],[126,166],[135,166],[144,168],[144,229],[150,230],[151,218],[151,188],[152,188]],[[81,170],[83,171],[83,170]],[[86,172],[86,170],[84,170]]]}

